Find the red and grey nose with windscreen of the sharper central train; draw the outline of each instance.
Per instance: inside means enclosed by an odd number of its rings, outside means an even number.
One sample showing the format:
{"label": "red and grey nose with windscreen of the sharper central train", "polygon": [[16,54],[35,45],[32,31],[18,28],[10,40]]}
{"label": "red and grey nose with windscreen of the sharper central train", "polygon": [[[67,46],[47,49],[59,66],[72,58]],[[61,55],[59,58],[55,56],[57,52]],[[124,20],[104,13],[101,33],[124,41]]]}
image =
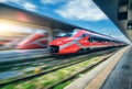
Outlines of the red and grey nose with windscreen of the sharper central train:
{"label": "red and grey nose with windscreen of the sharper central train", "polygon": [[52,54],[72,54],[79,49],[76,44],[77,31],[67,33],[64,37],[56,38],[50,43],[50,51]]}

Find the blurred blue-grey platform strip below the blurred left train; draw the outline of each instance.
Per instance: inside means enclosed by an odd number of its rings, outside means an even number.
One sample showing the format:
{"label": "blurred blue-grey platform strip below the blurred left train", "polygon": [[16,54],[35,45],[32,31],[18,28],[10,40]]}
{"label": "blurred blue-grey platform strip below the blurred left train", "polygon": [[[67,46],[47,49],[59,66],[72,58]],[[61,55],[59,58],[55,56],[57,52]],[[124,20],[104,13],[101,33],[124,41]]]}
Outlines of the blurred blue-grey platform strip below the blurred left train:
{"label": "blurred blue-grey platform strip below the blurred left train", "polygon": [[30,59],[41,55],[47,55],[46,49],[30,49],[30,51],[3,51],[0,52],[0,64],[14,60]]}

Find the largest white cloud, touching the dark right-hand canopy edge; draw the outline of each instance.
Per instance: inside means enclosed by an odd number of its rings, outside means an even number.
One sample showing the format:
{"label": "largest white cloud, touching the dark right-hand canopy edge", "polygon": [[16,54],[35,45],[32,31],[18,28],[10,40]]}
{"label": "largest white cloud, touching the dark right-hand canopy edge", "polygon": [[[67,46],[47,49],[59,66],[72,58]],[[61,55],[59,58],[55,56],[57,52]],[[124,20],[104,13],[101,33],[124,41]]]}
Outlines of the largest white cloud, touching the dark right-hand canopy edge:
{"label": "largest white cloud, touching the dark right-hand canopy edge", "polygon": [[70,0],[55,12],[70,20],[100,21],[108,19],[91,0]]}

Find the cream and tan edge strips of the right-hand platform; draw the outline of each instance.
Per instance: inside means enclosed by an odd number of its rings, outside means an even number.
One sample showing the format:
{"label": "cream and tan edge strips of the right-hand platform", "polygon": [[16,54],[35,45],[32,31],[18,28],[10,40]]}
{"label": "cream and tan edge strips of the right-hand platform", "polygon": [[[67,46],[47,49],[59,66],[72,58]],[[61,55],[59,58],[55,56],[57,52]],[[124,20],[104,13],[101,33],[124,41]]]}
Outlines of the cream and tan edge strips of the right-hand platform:
{"label": "cream and tan edge strips of the right-hand platform", "polygon": [[[128,48],[129,47],[124,47],[120,49],[112,57],[110,57],[109,59],[97,66],[88,74],[76,79],[64,89],[99,89],[103,84],[105,79],[112,70],[112,68],[120,60],[121,56]],[[108,88],[103,88],[103,89],[108,89]]]}

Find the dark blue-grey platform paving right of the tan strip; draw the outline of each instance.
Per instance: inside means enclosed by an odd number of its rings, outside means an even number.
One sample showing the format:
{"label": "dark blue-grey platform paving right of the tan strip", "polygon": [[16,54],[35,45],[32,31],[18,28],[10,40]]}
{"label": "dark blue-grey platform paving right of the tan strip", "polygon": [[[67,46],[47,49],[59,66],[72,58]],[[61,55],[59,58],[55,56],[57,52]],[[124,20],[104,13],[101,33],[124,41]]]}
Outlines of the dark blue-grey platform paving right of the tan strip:
{"label": "dark blue-grey platform paving right of the tan strip", "polygon": [[132,89],[132,47],[123,54],[100,89]]}

